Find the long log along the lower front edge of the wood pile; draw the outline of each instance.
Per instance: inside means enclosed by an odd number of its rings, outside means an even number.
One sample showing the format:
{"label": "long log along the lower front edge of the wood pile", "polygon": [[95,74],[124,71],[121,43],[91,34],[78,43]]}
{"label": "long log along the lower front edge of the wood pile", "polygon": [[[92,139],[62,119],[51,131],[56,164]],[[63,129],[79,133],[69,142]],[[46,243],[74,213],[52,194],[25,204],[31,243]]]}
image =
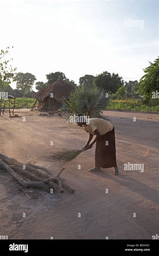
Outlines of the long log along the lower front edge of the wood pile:
{"label": "long log along the lower front edge of the wood pile", "polygon": [[0,160],[0,164],[10,173],[10,175],[15,178],[22,186],[25,188],[28,187],[35,187],[35,188],[43,188],[46,191],[50,192],[50,189],[53,187],[50,187],[49,185],[44,184],[43,182],[38,182],[38,181],[25,181],[22,177],[17,175],[13,169],[8,166],[6,163],[4,163],[2,160]]}

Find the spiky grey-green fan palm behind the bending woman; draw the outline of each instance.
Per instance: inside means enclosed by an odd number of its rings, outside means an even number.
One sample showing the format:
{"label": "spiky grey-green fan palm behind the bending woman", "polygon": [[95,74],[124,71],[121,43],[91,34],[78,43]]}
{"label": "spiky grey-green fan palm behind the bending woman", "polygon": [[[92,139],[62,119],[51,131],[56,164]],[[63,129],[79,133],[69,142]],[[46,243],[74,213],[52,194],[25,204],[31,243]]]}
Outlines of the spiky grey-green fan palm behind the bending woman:
{"label": "spiky grey-green fan palm behind the bending woman", "polygon": [[[103,118],[103,111],[106,110],[110,97],[106,96],[107,91],[91,84],[80,84],[70,92],[68,99],[64,100],[69,111],[66,121],[74,114],[83,114],[90,118]],[[109,92],[108,92],[109,93]]]}

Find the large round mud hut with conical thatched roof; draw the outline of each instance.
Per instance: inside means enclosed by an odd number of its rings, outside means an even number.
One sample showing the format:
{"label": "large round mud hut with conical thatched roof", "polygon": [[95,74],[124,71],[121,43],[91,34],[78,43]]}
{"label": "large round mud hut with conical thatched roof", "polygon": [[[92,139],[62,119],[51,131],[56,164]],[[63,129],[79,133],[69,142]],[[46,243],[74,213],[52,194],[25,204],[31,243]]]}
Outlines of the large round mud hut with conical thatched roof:
{"label": "large round mud hut with conical thatched roof", "polygon": [[[49,111],[61,108],[62,99],[68,98],[73,86],[65,83],[62,78],[40,90],[34,95],[39,103],[45,102]],[[50,97],[51,95],[51,97]]]}

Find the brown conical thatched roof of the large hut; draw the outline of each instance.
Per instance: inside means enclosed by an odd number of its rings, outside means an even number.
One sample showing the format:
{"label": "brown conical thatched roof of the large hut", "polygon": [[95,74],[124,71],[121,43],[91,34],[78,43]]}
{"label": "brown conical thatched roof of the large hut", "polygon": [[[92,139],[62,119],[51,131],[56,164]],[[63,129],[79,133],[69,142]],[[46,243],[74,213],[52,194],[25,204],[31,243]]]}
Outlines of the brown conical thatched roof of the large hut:
{"label": "brown conical thatched roof of the large hut", "polygon": [[62,79],[57,80],[56,82],[50,84],[45,89],[40,90],[34,95],[34,98],[39,101],[43,101],[46,97],[53,93],[53,99],[58,102],[61,102],[61,99],[68,98],[73,86],[65,83]]}

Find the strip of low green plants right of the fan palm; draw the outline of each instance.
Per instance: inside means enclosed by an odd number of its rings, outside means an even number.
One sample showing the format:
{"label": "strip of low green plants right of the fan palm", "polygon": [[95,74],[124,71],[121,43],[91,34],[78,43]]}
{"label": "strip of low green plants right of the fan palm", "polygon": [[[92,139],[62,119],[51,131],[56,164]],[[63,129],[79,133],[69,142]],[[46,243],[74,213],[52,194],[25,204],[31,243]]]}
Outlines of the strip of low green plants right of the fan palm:
{"label": "strip of low green plants right of the fan palm", "polygon": [[157,113],[159,112],[159,99],[114,99],[110,102],[107,109]]}

